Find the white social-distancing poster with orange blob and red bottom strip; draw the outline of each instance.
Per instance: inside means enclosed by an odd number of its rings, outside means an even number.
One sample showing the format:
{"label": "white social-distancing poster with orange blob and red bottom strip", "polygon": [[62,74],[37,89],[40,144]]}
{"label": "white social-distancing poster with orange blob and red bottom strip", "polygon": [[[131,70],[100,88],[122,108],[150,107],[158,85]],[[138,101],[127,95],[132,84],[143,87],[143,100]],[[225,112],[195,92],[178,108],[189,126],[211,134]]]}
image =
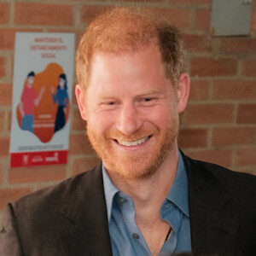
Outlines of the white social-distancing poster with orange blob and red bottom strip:
{"label": "white social-distancing poster with orange blob and red bottom strip", "polygon": [[73,33],[17,32],[10,167],[67,163]]}

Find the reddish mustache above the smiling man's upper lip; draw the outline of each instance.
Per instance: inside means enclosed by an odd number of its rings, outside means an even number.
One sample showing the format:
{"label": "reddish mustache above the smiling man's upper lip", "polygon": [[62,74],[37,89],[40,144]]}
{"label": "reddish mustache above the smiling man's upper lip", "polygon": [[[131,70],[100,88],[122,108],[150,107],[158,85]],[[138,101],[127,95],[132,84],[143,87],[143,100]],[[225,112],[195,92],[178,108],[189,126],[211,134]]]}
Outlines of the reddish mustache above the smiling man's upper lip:
{"label": "reddish mustache above the smiling man's upper lip", "polygon": [[133,132],[132,134],[125,134],[121,131],[106,131],[105,135],[106,137],[115,139],[115,140],[121,140],[121,141],[126,141],[126,142],[133,142],[133,141],[137,141],[138,139],[141,139],[143,137],[149,137],[152,136],[154,134],[159,133],[160,129],[156,126],[154,127],[150,127],[150,128],[141,128],[135,132]]}

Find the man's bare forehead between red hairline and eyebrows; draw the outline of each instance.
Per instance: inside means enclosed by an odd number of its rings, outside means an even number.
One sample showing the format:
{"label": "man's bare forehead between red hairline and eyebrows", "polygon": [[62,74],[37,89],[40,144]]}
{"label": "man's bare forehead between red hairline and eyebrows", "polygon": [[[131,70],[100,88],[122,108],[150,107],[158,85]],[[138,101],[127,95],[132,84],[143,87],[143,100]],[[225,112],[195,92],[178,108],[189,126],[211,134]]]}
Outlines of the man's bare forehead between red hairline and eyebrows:
{"label": "man's bare forehead between red hairline and eyebrows", "polygon": [[153,45],[120,54],[97,52],[91,62],[88,90],[123,92],[128,90],[159,90],[166,79],[160,49]]}

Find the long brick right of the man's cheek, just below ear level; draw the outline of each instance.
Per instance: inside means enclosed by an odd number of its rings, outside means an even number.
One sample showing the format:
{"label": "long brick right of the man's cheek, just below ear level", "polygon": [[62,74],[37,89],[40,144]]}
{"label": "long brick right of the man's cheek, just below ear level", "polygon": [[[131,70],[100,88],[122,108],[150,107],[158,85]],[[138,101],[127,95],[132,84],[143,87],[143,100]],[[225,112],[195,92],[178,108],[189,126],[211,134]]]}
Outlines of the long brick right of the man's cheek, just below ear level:
{"label": "long brick right of the man's cheek, just below ear level", "polygon": [[202,104],[189,105],[186,110],[185,123],[199,124],[228,124],[233,122],[234,105],[232,104]]}

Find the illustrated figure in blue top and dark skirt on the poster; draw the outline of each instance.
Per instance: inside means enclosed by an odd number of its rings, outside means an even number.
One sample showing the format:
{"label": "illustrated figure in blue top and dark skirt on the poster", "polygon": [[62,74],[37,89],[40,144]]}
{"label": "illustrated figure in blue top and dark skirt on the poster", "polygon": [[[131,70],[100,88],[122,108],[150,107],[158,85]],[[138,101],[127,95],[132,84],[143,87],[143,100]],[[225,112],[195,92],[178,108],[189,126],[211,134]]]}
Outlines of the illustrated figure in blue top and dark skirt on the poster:
{"label": "illustrated figure in blue top and dark skirt on the poster", "polygon": [[68,104],[68,93],[67,93],[67,79],[66,74],[61,73],[59,77],[59,84],[57,86],[57,92],[51,88],[53,102],[58,102],[59,106],[55,117],[55,131],[61,130],[66,123],[66,113]]}

